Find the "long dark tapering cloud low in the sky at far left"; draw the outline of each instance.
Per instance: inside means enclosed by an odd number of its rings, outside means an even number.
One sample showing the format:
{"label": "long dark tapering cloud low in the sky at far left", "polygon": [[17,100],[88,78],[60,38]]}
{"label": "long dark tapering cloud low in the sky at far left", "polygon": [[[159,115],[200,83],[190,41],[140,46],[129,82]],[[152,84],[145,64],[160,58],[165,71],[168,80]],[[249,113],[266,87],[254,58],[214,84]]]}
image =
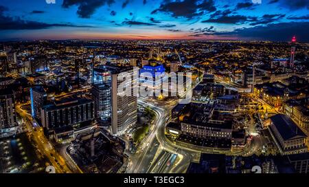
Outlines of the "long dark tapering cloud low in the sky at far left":
{"label": "long dark tapering cloud low in the sky at far left", "polygon": [[25,21],[20,17],[6,17],[3,12],[8,10],[0,5],[0,30],[41,30],[52,27],[94,28],[87,25],[73,25],[71,23],[42,23],[38,21]]}

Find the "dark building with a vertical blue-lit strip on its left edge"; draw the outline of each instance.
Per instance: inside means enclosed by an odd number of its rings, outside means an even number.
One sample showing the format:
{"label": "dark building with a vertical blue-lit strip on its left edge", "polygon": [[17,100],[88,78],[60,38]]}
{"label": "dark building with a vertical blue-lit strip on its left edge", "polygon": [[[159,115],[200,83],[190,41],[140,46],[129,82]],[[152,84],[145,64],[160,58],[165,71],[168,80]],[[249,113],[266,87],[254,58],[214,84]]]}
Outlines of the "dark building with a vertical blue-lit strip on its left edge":
{"label": "dark building with a vertical blue-lit strip on its left edge", "polygon": [[31,115],[33,118],[41,120],[41,108],[47,100],[47,94],[42,86],[30,89]]}

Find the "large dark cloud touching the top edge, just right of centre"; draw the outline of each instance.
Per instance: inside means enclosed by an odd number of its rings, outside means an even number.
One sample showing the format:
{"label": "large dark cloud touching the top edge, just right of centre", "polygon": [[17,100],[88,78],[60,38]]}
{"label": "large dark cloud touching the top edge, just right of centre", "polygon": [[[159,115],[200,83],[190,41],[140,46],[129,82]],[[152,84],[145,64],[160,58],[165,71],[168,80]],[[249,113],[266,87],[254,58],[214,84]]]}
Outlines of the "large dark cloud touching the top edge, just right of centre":
{"label": "large dark cloud touching the top edge, just right of centre", "polygon": [[170,14],[174,18],[183,17],[186,19],[192,19],[194,17],[201,16],[205,12],[214,12],[216,7],[213,0],[183,0],[183,1],[170,1],[164,0],[160,7],[153,10],[151,14],[157,12],[165,12]]}

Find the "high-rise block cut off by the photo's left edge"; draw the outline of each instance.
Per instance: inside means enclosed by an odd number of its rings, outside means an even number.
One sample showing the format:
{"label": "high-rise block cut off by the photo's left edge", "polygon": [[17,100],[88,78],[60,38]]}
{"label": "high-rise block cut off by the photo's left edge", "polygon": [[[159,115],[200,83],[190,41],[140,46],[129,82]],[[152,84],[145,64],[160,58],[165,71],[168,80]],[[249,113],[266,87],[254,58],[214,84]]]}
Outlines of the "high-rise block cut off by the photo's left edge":
{"label": "high-rise block cut off by the photo's left edge", "polygon": [[11,89],[0,91],[0,133],[17,126],[14,94]]}

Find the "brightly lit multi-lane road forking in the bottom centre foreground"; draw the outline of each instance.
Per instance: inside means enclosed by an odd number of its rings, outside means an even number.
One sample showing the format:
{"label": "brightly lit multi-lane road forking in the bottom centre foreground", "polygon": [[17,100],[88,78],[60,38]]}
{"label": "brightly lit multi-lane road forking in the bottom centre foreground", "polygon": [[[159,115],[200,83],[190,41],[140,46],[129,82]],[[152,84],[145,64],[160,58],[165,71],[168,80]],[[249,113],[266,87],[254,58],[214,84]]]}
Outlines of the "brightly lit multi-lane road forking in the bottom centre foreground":
{"label": "brightly lit multi-lane road forking in the bottom centre foreground", "polygon": [[151,172],[153,167],[152,163],[157,163],[155,158],[162,151],[177,155],[176,161],[173,164],[168,168],[163,168],[165,173],[185,173],[187,166],[189,166],[194,158],[199,157],[200,152],[176,147],[176,145],[166,140],[165,124],[167,123],[168,115],[170,115],[170,110],[177,102],[170,102],[164,108],[158,107],[146,99],[140,98],[138,102],[144,107],[150,107],[155,111],[157,120],[155,122],[155,128],[143,141],[144,144],[137,150],[135,155],[130,155],[131,163],[129,164],[127,173]]}

